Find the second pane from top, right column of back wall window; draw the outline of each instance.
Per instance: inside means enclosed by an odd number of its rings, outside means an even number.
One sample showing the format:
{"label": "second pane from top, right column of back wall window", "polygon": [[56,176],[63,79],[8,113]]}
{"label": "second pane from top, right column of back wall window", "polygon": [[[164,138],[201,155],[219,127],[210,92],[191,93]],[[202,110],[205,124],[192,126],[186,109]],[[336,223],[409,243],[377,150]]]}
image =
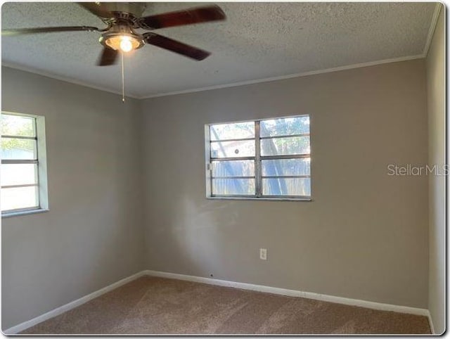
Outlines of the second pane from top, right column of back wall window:
{"label": "second pane from top, right column of back wall window", "polygon": [[309,136],[262,139],[261,155],[309,154]]}

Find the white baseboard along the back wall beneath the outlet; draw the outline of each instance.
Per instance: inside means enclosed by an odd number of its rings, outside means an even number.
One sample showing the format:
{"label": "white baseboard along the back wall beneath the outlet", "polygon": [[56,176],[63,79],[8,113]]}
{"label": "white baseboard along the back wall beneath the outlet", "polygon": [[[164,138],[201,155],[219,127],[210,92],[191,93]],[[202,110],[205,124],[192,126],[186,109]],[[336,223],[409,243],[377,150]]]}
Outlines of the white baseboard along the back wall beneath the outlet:
{"label": "white baseboard along the back wall beneath the outlet", "polygon": [[255,285],[253,283],[237,283],[234,281],[210,279],[210,278],[206,278],[206,277],[202,277],[202,276],[188,276],[186,274],[176,274],[176,273],[169,273],[169,272],[162,272],[162,271],[147,270],[145,272],[149,276],[160,276],[162,278],[195,281],[198,283],[209,283],[210,285],[242,288],[243,290],[256,290],[258,292],[265,292],[265,293],[272,293],[272,294],[279,294],[279,295],[289,295],[290,297],[302,297],[302,298],[308,298],[308,299],[314,299],[314,300],[322,300],[322,301],[327,301],[327,302],[335,302],[337,304],[366,307],[366,308],[370,308],[370,309],[380,309],[382,311],[393,311],[393,312],[399,312],[399,313],[416,314],[416,315],[420,315],[420,316],[429,316],[429,314],[430,314],[430,312],[428,312],[428,309],[382,304],[380,302],[373,302],[373,301],[367,301],[367,300],[335,297],[334,295],[304,292],[302,290],[288,290],[286,288]]}

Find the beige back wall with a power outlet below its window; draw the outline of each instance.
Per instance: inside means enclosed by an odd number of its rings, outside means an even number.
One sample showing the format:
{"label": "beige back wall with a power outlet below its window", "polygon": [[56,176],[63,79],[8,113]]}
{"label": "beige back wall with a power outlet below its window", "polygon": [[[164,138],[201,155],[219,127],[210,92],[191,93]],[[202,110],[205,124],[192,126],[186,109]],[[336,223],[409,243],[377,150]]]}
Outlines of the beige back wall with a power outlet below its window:
{"label": "beige back wall with a power outlet below its window", "polygon": [[[427,308],[426,105],[424,60],[143,101],[147,268]],[[313,202],[205,198],[204,124],[305,113]]]}

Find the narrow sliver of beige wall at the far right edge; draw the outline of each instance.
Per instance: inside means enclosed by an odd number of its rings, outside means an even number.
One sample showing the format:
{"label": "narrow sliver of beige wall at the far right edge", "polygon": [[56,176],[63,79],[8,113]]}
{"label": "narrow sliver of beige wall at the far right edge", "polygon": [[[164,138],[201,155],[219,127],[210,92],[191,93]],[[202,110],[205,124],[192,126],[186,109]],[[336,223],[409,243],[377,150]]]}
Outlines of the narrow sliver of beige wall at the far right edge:
{"label": "narrow sliver of beige wall at the far right edge", "polygon": [[[426,60],[428,91],[428,163],[445,163],[445,40],[442,8]],[[445,180],[429,177],[429,301],[435,333],[445,330]]]}

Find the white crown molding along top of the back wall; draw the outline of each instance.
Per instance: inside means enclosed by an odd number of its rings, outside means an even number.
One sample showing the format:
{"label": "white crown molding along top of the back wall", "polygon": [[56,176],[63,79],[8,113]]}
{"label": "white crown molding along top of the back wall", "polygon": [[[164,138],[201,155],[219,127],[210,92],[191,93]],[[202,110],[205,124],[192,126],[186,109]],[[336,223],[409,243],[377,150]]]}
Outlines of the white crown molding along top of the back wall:
{"label": "white crown molding along top of the back wall", "polygon": [[194,92],[200,92],[200,91],[210,91],[212,89],[224,89],[224,88],[229,88],[229,87],[239,87],[239,86],[245,86],[245,85],[250,85],[250,84],[259,84],[262,82],[272,82],[272,81],[277,81],[277,80],[292,79],[295,77],[307,77],[308,75],[318,75],[318,74],[322,74],[322,73],[340,72],[342,70],[352,70],[353,68],[363,68],[363,67],[369,67],[369,66],[375,66],[375,65],[382,65],[383,63],[398,63],[399,61],[408,61],[408,60],[414,60],[414,59],[420,59],[420,58],[423,58],[423,54],[419,54],[416,56],[401,56],[399,58],[368,61],[367,63],[355,63],[352,65],[345,65],[345,66],[339,66],[339,67],[334,67],[334,68],[326,68],[325,70],[311,70],[308,72],[293,73],[293,74],[289,74],[289,75],[281,75],[279,77],[266,77],[263,79],[255,79],[255,80],[249,80],[249,81],[244,81],[244,82],[233,82],[231,84],[221,84],[221,85],[214,85],[214,86],[208,86],[208,87],[200,87],[200,88],[196,88],[196,89],[185,89],[182,91],[172,91],[172,92],[166,92],[166,93],[160,93],[160,94],[152,94],[150,96],[140,96],[139,99],[158,98],[160,96],[174,96],[177,94],[188,94],[188,93],[194,93]]}

